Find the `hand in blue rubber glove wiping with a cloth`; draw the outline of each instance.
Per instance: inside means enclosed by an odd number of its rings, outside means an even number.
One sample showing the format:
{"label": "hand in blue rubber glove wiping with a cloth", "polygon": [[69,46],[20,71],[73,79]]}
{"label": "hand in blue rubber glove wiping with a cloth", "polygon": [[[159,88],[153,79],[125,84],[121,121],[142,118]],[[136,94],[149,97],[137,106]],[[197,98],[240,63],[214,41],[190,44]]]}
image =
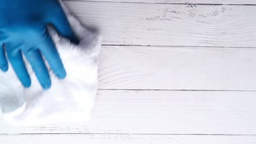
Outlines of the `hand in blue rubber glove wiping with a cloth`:
{"label": "hand in blue rubber glove wiping with a cloth", "polygon": [[0,0],[0,11],[0,68],[8,70],[8,58],[21,83],[30,87],[31,79],[22,58],[23,53],[42,87],[48,89],[51,80],[43,61],[44,56],[57,77],[65,78],[65,68],[47,26],[54,26],[63,37],[69,38],[73,43],[78,43],[78,40],[59,1]]}

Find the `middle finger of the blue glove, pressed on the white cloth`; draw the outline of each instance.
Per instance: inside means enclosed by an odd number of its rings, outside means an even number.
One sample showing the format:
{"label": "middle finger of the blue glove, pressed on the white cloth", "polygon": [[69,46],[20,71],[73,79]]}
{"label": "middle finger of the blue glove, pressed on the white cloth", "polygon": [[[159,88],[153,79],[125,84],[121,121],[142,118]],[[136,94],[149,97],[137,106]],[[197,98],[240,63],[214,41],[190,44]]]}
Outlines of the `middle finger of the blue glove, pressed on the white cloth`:
{"label": "middle finger of the blue glove, pressed on the white cloth", "polygon": [[24,54],[28,62],[30,62],[31,67],[33,68],[34,73],[36,74],[41,86],[44,89],[49,89],[51,87],[50,75],[39,50],[30,51]]}

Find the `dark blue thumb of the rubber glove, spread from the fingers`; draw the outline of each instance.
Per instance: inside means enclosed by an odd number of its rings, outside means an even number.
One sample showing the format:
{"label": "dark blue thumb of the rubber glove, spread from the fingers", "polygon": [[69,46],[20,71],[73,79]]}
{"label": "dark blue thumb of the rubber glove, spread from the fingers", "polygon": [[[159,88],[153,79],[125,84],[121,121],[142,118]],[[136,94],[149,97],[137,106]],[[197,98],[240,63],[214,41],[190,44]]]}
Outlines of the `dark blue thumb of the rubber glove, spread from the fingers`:
{"label": "dark blue thumb of the rubber glove, spread from the fingers", "polygon": [[79,40],[75,37],[72,28],[67,20],[67,17],[61,8],[56,8],[54,14],[51,17],[50,23],[56,28],[56,30],[63,36],[70,39],[73,43],[78,44]]}

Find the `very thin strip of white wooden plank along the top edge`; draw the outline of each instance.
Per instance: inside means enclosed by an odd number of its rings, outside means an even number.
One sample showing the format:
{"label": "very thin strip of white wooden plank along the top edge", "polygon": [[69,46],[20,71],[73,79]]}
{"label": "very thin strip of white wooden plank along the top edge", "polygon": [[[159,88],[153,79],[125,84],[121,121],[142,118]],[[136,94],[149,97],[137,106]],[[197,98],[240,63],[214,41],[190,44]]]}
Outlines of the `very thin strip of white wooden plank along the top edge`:
{"label": "very thin strip of white wooden plank along the top edge", "polygon": [[[70,0],[65,0],[70,1]],[[81,0],[73,0],[81,1]],[[127,2],[127,3],[177,3],[177,4],[256,4],[254,0],[82,0],[96,2]]]}

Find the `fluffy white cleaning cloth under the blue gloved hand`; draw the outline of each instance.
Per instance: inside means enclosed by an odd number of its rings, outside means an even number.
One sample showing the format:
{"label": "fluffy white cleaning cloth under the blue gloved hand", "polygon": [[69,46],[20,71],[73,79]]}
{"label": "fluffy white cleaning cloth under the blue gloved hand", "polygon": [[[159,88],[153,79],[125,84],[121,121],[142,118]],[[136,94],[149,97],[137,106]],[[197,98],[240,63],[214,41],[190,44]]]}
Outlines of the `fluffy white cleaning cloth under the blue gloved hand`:
{"label": "fluffy white cleaning cloth under the blue gloved hand", "polygon": [[10,124],[71,124],[83,123],[90,118],[97,90],[97,57],[101,36],[81,25],[63,3],[62,6],[80,39],[79,45],[74,45],[49,28],[67,77],[57,79],[50,71],[52,86],[44,91],[29,64],[30,88],[21,85],[11,67],[7,73],[0,71],[0,113],[2,111],[3,119]]}

